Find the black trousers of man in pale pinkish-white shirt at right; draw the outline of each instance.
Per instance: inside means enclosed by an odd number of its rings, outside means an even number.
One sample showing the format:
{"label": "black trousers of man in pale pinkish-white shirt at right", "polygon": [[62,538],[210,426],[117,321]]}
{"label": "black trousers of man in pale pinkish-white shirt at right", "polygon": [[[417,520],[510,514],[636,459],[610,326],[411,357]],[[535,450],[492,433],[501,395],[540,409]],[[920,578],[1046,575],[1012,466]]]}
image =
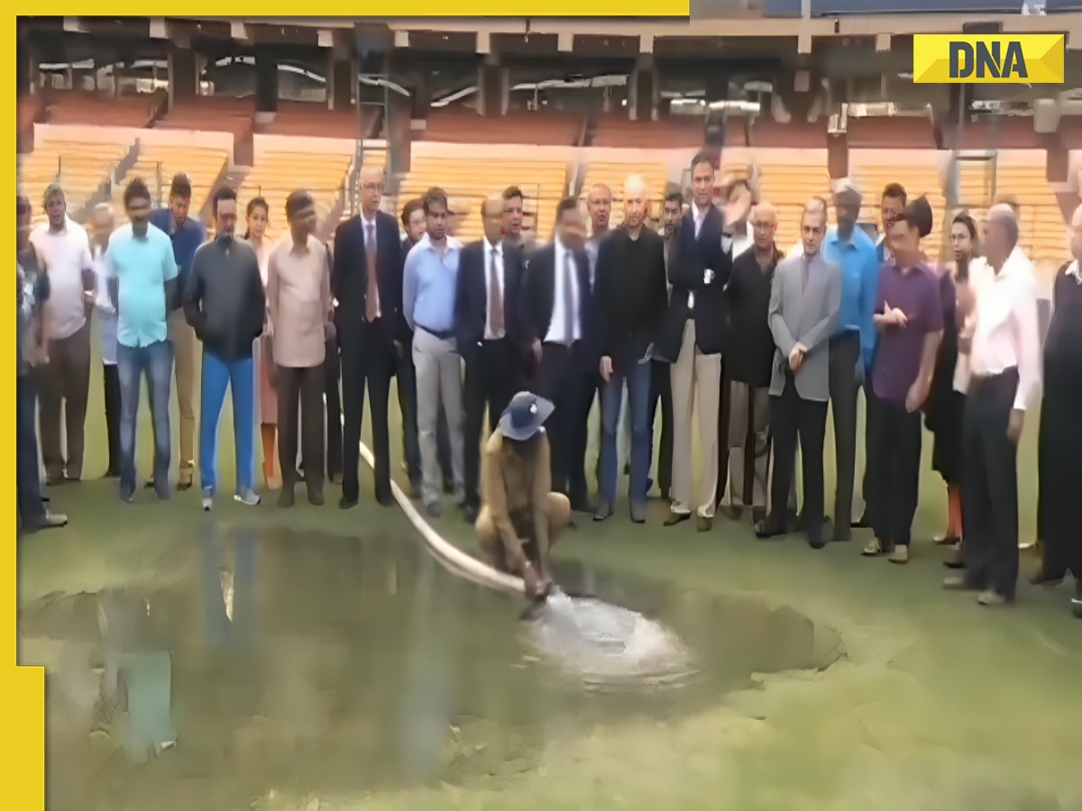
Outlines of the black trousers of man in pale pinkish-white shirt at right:
{"label": "black trousers of man in pale pinkish-white shirt at right", "polygon": [[1018,448],[1007,436],[1018,371],[974,378],[962,420],[962,514],[969,584],[1014,598],[1018,583]]}

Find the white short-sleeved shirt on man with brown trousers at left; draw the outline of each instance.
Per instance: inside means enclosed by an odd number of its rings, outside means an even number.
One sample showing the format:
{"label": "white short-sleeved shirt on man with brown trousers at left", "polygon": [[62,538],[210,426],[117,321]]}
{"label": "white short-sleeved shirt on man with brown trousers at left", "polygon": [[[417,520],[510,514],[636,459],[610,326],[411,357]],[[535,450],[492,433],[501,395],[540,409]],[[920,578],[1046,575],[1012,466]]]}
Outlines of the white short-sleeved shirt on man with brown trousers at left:
{"label": "white short-sleeved shirt on man with brown trousers at left", "polygon": [[30,232],[38,263],[49,274],[49,300],[42,308],[47,338],[70,337],[87,323],[82,271],[93,266],[90,238],[81,225],[67,218],[53,232],[42,223]]}

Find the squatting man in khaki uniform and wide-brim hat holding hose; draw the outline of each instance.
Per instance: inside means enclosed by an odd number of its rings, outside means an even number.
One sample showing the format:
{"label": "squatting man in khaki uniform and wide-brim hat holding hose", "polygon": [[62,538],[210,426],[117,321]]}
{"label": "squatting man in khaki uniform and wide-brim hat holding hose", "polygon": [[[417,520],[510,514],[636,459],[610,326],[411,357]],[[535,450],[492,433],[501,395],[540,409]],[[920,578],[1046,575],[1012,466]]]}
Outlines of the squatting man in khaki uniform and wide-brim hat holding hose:
{"label": "squatting man in khaki uniform and wide-brim hat holding hose", "polygon": [[486,442],[481,461],[477,541],[492,566],[522,575],[529,599],[542,599],[552,588],[549,549],[571,517],[567,496],[552,492],[544,422],[553,408],[542,397],[519,391]]}

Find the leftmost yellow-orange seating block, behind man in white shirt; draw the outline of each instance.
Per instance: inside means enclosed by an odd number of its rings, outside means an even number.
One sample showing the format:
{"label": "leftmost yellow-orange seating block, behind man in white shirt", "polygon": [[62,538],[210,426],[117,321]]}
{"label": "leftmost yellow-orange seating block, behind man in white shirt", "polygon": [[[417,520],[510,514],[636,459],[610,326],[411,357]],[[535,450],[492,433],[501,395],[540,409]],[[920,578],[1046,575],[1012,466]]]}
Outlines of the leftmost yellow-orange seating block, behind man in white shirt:
{"label": "leftmost yellow-orange seating block, behind man in white shirt", "polygon": [[68,203],[68,215],[80,214],[91,198],[106,186],[129,145],[79,141],[39,141],[22,159],[19,190],[30,198],[35,222],[44,218],[42,195],[50,183],[60,182]]}

